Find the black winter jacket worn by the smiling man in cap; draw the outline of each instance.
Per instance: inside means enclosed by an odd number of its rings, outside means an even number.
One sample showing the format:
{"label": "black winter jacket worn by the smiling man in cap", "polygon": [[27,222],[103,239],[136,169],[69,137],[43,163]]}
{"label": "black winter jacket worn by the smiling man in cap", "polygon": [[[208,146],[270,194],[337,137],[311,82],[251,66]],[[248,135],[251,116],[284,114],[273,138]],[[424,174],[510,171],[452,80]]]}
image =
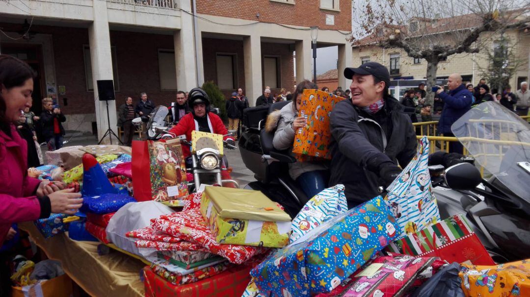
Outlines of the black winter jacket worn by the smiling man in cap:
{"label": "black winter jacket worn by the smiling man in cap", "polygon": [[331,113],[330,185],[345,185],[348,208],[379,195],[379,170],[388,161],[405,168],[416,155],[416,133],[393,97],[372,115],[343,100]]}

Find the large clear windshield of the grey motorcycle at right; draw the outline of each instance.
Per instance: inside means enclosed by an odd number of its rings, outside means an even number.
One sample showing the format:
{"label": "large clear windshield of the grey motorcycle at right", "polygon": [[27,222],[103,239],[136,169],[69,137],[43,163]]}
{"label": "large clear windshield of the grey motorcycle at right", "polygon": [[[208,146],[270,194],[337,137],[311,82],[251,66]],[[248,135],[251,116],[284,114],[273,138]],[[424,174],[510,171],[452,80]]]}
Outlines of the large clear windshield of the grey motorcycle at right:
{"label": "large clear windshield of the grey motorcycle at right", "polygon": [[496,177],[517,196],[530,200],[530,125],[496,102],[484,102],[452,126],[475,158],[484,178]]}

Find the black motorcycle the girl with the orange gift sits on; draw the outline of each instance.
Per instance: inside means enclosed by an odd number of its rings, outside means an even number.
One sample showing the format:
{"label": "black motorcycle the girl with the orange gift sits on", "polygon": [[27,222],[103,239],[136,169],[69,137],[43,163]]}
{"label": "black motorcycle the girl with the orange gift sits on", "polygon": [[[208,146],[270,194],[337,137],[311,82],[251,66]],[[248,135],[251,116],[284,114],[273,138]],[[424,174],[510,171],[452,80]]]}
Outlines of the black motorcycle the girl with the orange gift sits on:
{"label": "black motorcycle the girl with the orange gift sits on", "polygon": [[238,147],[246,168],[254,173],[255,182],[245,188],[261,191],[270,200],[284,206],[294,218],[309,198],[289,176],[289,163],[296,159],[288,151],[279,151],[272,146],[274,132],[264,127],[267,115],[279,110],[290,101],[277,102],[268,106],[249,107],[243,111],[243,132]]}

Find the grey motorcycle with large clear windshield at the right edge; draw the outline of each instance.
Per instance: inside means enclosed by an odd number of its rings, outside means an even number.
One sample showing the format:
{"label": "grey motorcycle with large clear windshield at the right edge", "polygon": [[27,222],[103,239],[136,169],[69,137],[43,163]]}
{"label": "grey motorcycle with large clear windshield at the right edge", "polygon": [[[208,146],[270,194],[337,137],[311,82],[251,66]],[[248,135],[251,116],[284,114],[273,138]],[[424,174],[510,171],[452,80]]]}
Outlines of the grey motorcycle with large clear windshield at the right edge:
{"label": "grey motorcycle with large clear windshield at the right edge", "polygon": [[465,214],[497,263],[530,258],[530,125],[485,102],[451,129],[476,166],[467,159],[429,167],[441,219]]}

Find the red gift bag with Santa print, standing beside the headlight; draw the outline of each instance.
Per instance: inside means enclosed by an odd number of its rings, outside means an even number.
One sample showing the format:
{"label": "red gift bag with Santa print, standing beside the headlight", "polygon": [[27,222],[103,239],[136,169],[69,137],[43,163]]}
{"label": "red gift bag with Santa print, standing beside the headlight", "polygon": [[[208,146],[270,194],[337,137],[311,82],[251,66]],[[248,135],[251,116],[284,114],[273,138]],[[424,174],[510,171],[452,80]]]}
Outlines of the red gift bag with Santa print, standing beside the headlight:
{"label": "red gift bag with Santa print, standing beside the headlight", "polygon": [[179,139],[133,141],[132,173],[138,201],[176,200],[188,194]]}

